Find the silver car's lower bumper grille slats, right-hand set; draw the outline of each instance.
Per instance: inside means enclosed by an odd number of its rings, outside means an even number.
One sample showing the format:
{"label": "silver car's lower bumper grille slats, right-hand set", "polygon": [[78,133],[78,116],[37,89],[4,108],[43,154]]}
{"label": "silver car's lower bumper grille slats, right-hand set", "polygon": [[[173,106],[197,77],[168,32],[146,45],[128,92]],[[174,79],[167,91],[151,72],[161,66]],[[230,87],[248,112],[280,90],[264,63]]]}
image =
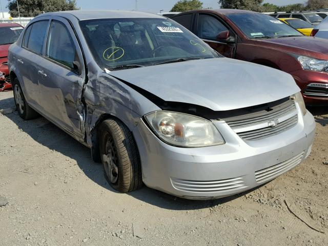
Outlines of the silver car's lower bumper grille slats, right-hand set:
{"label": "silver car's lower bumper grille slats, right-hand set", "polygon": [[284,172],[287,172],[288,170],[294,168],[301,162],[303,155],[304,155],[304,151],[302,153],[294,156],[293,158],[290,158],[290,159],[288,159],[284,162],[281,162],[275,166],[256,171],[255,172],[256,181],[258,183],[262,183],[262,182],[268,181],[270,179],[273,179],[273,178],[283,174]]}

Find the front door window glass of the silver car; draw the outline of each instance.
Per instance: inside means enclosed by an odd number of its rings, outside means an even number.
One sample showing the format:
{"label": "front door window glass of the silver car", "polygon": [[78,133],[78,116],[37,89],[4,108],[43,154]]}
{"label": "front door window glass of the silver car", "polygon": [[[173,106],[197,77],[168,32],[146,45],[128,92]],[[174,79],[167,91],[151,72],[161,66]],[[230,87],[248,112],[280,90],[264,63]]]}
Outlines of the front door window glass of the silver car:
{"label": "front door window glass of the silver car", "polygon": [[49,29],[46,56],[73,69],[75,53],[76,48],[66,26],[53,20]]}

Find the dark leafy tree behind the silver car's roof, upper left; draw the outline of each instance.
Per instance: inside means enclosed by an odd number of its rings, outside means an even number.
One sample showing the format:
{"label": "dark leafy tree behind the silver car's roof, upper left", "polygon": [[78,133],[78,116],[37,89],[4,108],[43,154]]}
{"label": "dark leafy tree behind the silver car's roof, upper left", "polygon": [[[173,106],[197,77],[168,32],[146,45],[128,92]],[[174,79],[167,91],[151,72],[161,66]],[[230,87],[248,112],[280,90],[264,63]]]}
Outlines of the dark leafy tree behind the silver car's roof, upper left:
{"label": "dark leafy tree behind the silver car's roof, upper left", "polygon": [[[20,16],[34,17],[43,12],[76,10],[75,0],[19,0]],[[8,0],[8,9],[12,17],[18,16],[17,1]]]}

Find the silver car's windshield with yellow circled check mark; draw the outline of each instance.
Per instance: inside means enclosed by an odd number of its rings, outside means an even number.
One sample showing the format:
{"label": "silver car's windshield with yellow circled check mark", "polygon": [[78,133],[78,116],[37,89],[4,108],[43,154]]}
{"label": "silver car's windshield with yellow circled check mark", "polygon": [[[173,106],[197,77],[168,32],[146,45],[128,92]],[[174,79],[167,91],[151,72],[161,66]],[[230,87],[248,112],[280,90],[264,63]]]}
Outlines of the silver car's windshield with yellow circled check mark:
{"label": "silver car's windshield with yellow circled check mark", "polygon": [[220,57],[171,19],[92,19],[80,21],[80,26],[96,62],[103,69]]}

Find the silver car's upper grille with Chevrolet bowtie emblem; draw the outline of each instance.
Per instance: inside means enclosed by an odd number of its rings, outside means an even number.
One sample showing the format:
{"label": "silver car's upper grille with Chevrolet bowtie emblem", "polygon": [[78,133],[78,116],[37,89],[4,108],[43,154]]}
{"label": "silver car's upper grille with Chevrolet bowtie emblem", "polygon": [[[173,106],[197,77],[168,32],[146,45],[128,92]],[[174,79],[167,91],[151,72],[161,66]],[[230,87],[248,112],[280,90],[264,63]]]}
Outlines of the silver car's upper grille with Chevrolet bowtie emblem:
{"label": "silver car's upper grille with Chevrolet bowtie emblem", "polygon": [[293,100],[284,101],[270,110],[223,119],[244,140],[258,140],[294,127],[298,122]]}

